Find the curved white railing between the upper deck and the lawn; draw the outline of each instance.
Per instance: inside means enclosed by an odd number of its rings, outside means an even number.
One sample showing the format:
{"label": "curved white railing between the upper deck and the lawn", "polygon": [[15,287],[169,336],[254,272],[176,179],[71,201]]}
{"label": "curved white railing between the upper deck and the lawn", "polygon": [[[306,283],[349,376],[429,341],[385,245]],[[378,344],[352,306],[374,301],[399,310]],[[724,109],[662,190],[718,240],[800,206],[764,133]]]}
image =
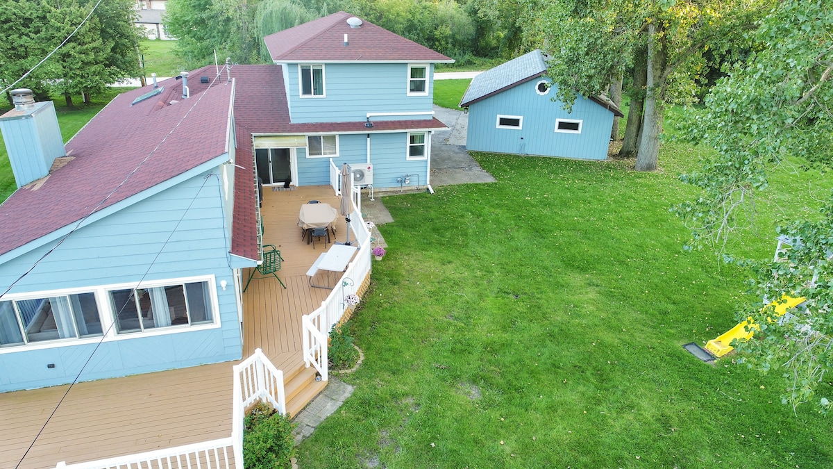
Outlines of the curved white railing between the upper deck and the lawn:
{"label": "curved white railing between the upper deck and the lawn", "polygon": [[361,284],[371,272],[370,232],[367,231],[367,225],[358,209],[353,210],[350,215],[350,229],[356,235],[359,252],[350,265],[347,265],[347,270],[337,281],[330,295],[327,295],[327,300],[324,300],[317,310],[303,315],[301,320],[304,363],[307,367],[315,366],[323,381],[327,381],[329,374],[327,338],[330,336],[330,330],[342,320],[347,311],[344,299],[347,295],[355,294],[360,286],[357,282]]}

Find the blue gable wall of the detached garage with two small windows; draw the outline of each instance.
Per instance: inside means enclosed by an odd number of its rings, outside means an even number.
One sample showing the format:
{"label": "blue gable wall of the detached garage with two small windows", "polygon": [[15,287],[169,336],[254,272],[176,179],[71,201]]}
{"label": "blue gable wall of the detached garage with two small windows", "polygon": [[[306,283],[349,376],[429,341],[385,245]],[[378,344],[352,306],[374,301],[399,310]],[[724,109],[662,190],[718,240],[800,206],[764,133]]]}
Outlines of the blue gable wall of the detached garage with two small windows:
{"label": "blue gable wall of the detached garage with two small windows", "polygon": [[[466,149],[508,154],[535,154],[577,159],[606,159],[613,113],[589,99],[576,98],[568,113],[552,101],[556,87],[541,96],[536,83],[509,88],[469,107]],[[523,116],[521,130],[496,129],[497,115]],[[555,132],[556,119],[580,119],[581,134]]]}

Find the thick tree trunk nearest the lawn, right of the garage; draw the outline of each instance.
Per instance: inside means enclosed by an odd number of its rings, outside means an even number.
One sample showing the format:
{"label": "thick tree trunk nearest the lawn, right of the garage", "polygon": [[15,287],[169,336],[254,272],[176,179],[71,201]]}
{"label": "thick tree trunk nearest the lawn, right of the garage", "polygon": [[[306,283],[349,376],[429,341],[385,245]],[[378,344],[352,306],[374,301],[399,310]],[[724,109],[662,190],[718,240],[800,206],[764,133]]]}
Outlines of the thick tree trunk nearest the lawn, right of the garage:
{"label": "thick tree trunk nearest the lawn, right of the garage", "polygon": [[666,68],[666,49],[656,38],[656,26],[648,25],[648,73],[645,96],[645,117],[642,125],[642,138],[636,152],[636,170],[653,171],[660,154],[660,134],[662,134],[662,72]]}

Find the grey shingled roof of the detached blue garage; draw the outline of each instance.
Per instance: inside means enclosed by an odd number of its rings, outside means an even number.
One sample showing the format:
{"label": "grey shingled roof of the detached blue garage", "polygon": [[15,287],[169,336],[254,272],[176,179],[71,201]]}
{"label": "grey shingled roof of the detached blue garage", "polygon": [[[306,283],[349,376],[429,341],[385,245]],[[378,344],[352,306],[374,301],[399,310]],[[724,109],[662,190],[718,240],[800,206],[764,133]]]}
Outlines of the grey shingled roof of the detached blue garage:
{"label": "grey shingled roof of the detached blue garage", "polygon": [[[471,83],[469,83],[466,93],[463,94],[460,100],[460,107],[465,108],[509,88],[541,78],[544,73],[546,73],[546,57],[541,49],[525,53],[521,57],[501,63],[497,67],[471,78]],[[625,114],[621,112],[616,104],[606,96],[593,96],[588,99],[611,111],[616,117],[625,117]]]}

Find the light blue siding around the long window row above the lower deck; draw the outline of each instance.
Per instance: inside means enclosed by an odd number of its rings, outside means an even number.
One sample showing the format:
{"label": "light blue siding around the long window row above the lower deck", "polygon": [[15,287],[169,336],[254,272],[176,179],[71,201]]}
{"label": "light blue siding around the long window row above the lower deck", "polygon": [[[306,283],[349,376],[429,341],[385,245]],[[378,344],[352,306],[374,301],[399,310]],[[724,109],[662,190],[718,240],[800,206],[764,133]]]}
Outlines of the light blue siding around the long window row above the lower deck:
{"label": "light blue siding around the long window row above the lower deck", "polygon": [[[215,314],[220,327],[105,340],[82,381],[241,358],[234,289],[223,291],[218,286],[221,280],[234,285],[222,219],[222,175],[218,170],[209,174],[207,179],[207,174],[198,175],[78,229],[12,289],[12,293],[22,293],[134,283],[142,276],[165,280],[216,275],[217,285],[209,282],[209,287],[217,290],[219,311]],[[0,265],[0,288],[5,289],[52,245]],[[67,344],[42,350],[20,347],[0,354],[0,391],[72,381],[95,345]],[[52,363],[55,368],[48,369]]]}

